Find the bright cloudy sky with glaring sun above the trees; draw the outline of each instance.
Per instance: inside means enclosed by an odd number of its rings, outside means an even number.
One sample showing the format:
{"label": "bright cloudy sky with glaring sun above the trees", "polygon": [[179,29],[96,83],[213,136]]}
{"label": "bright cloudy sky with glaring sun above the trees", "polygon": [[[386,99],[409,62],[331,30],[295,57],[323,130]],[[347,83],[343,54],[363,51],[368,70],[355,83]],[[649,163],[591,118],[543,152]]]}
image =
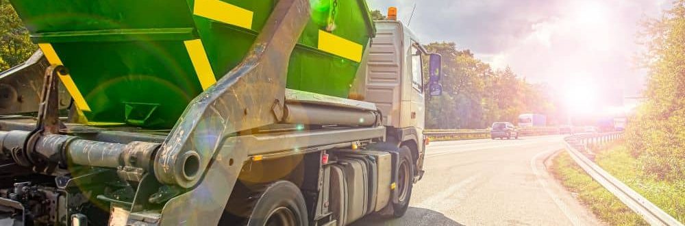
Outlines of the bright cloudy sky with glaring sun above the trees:
{"label": "bright cloudy sky with glaring sun above the trees", "polygon": [[458,49],[471,49],[493,68],[510,66],[529,82],[606,97],[640,96],[646,71],[635,60],[643,51],[639,23],[660,17],[671,6],[670,0],[367,2],[371,10],[384,14],[388,7],[397,7],[405,24],[416,3],[409,26],[421,42],[456,42]]}

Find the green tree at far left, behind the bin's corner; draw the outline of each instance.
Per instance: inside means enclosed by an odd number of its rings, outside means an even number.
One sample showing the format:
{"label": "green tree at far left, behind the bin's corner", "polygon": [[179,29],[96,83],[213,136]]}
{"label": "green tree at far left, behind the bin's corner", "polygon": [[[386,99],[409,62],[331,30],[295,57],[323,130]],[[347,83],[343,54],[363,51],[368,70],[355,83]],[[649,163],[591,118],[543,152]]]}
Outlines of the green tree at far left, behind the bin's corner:
{"label": "green tree at far left, behind the bin's corner", "polygon": [[0,71],[23,63],[37,47],[8,0],[0,0]]}

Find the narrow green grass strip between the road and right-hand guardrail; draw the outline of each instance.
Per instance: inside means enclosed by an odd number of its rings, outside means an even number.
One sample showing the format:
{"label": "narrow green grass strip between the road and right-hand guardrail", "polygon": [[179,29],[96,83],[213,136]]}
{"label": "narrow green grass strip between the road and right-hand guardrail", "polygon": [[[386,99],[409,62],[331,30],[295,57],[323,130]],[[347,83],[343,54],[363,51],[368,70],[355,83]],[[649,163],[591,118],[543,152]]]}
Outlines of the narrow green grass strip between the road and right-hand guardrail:
{"label": "narrow green grass strip between the road and right-hand guardrail", "polygon": [[608,225],[648,225],[640,216],[587,175],[573,162],[568,153],[560,153],[553,160],[551,171],[566,188],[577,194],[577,198],[594,212],[599,220]]}

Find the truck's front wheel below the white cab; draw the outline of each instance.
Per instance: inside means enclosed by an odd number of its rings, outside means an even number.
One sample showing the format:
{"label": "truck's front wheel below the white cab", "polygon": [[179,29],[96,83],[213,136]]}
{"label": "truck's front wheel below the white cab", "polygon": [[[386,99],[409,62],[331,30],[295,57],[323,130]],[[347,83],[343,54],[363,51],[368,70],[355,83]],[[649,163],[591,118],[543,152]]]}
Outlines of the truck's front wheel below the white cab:
{"label": "truck's front wheel below the white cab", "polygon": [[398,150],[399,164],[397,164],[397,203],[393,203],[393,215],[404,216],[409,208],[409,199],[414,187],[414,164],[409,147],[402,146]]}

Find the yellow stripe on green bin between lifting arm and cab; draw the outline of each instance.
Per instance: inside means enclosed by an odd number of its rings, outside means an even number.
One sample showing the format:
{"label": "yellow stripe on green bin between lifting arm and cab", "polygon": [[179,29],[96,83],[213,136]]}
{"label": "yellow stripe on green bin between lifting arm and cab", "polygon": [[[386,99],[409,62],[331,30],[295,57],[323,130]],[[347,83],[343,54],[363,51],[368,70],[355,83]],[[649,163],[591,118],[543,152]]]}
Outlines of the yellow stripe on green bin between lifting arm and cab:
{"label": "yellow stripe on green bin between lifting arm and cab", "polygon": [[362,45],[319,30],[319,49],[356,62],[362,61]]}

